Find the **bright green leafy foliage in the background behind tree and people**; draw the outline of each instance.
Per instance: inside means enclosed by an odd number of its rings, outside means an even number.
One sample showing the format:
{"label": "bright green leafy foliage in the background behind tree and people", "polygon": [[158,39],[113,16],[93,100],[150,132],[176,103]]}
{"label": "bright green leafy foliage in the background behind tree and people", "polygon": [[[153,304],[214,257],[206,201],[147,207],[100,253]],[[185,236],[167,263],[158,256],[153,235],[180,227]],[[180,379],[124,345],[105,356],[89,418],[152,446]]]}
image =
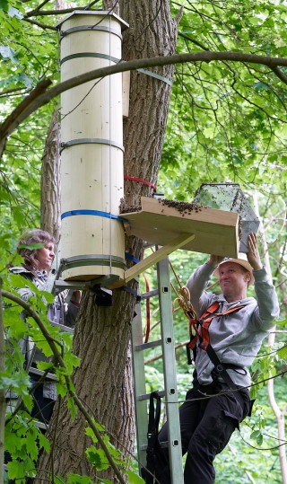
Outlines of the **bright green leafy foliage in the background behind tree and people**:
{"label": "bright green leafy foliage in the background behind tree and people", "polygon": [[[286,2],[185,0],[171,3],[174,14],[181,4],[185,9],[179,24],[178,52],[234,50],[287,57]],[[54,84],[59,81],[55,28],[59,19],[54,14],[38,16],[35,9],[39,5],[33,0],[0,0],[2,120],[43,77]],[[73,3],[74,7],[81,5],[83,2]],[[94,6],[100,8],[100,3]],[[52,13],[55,3],[46,2],[45,8]],[[287,75],[286,69],[282,72]],[[257,191],[282,320],[286,318],[286,99],[286,80],[265,66],[232,62],[177,66],[158,183],[158,191],[166,198],[186,201],[192,201],[203,182],[239,182],[251,203]],[[2,274],[6,264],[13,261],[19,234],[39,226],[41,156],[57,107],[58,100],[51,101],[24,121],[9,137],[0,160]],[[205,256],[178,251],[170,259],[184,284]],[[148,277],[155,284],[153,269]],[[152,321],[156,321],[156,303],[152,303],[152,310]],[[156,328],[152,330],[154,339]],[[284,325],[278,328],[283,330]],[[180,312],[175,313],[175,334],[177,343],[187,339],[187,322]],[[285,335],[280,333],[276,348],[284,343]],[[153,351],[146,357],[154,356]],[[268,352],[268,348],[262,349],[262,355]],[[255,376],[265,375],[270,365],[278,373],[283,371],[287,355],[282,351],[279,356],[272,363],[264,357],[258,359]],[[184,349],[177,351],[177,362],[178,391],[183,399],[191,378]],[[149,385],[157,389],[162,384],[161,362],[155,361],[148,368]],[[285,377],[276,381],[275,393],[283,409]],[[263,436],[261,446],[262,434],[252,439],[249,425],[268,435]],[[265,387],[258,392],[254,417],[242,426],[241,433],[258,448],[278,444]],[[238,433],[232,437],[230,445],[235,454],[228,448],[218,457],[216,482],[281,481],[277,449],[259,451],[249,444]]]}

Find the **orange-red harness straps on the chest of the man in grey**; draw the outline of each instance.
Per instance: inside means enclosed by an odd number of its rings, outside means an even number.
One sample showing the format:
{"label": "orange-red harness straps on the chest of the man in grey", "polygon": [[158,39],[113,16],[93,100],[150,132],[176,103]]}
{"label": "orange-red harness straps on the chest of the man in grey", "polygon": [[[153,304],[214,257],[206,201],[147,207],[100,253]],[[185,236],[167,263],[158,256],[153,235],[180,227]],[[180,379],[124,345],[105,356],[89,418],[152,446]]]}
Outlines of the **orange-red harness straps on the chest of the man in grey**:
{"label": "orange-red harness straps on the chest of the man in grey", "polygon": [[[219,308],[219,303],[216,301],[213,303],[209,308],[206,309],[204,314],[200,317],[199,320],[196,321],[195,317],[193,314],[188,314],[187,312],[187,317],[189,319],[189,333],[190,333],[190,341],[187,344],[187,348],[194,349],[196,347],[196,342],[197,339],[199,338],[199,348],[204,349],[206,351],[210,338],[209,338],[209,326],[211,322],[213,321],[213,318],[216,316],[225,316],[226,314],[230,314],[230,312],[235,312],[239,311],[239,309],[243,308],[244,306],[235,306],[228,311],[224,312],[216,312]],[[198,331],[198,325],[201,325],[202,328],[202,334]],[[192,329],[196,331],[196,334],[192,334]]]}

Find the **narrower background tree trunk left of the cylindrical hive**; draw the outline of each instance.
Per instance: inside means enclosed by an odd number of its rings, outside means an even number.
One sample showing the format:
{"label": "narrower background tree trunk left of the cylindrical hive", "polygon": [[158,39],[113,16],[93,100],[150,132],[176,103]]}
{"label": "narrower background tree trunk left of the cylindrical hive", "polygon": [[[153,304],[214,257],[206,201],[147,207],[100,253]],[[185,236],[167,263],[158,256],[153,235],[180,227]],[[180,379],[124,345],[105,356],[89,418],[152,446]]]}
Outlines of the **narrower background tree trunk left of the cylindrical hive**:
{"label": "narrower background tree trunk left of the cylindrical hive", "polygon": [[54,112],[42,157],[41,171],[41,229],[60,236],[60,155],[59,123],[57,110]]}

